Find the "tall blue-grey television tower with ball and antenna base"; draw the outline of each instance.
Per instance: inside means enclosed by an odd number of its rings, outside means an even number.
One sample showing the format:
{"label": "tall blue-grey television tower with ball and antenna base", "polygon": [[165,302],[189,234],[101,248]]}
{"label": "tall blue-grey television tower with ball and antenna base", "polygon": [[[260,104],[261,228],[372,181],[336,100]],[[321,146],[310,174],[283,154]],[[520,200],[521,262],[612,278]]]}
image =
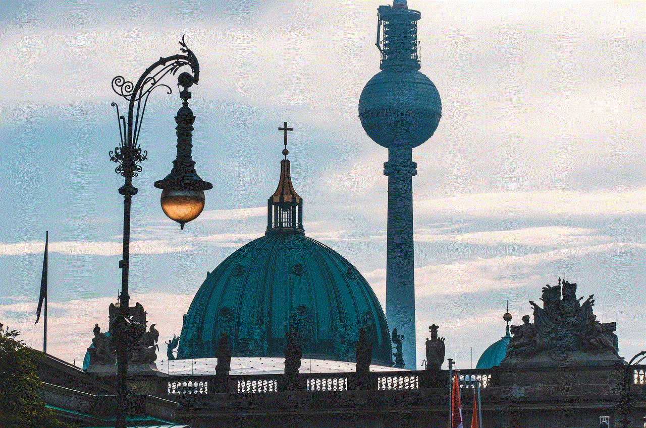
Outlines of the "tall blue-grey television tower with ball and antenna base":
{"label": "tall blue-grey television tower with ball and antenna base", "polygon": [[[442,104],[437,88],[419,72],[417,20],[406,0],[379,6],[379,68],[359,97],[359,119],[368,137],[388,148],[388,238],[386,244],[386,320],[404,335],[407,369],[415,359],[415,276],[413,263],[412,149],[428,140],[439,123]],[[383,35],[380,30],[383,28]]]}

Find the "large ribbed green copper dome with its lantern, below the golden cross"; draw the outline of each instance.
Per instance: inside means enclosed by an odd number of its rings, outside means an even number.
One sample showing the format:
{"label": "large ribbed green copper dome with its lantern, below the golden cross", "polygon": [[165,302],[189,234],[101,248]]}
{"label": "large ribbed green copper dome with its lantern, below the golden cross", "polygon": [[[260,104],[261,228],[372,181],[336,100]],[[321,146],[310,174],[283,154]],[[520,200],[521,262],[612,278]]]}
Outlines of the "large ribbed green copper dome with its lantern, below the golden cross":
{"label": "large ribbed green copper dome with its lantern, below the golden cross", "polygon": [[373,362],[391,365],[375,293],[348,260],[304,235],[301,208],[284,159],[265,236],[207,275],[184,315],[178,358],[215,356],[220,333],[229,335],[233,356],[283,356],[286,333],[295,331],[304,357],[352,360],[363,328]]}

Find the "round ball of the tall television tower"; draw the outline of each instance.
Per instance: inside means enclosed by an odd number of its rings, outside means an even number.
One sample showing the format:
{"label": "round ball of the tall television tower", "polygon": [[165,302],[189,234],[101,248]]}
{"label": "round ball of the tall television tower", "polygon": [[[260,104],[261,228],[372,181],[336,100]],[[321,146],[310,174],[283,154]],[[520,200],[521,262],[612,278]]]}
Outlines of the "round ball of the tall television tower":
{"label": "round ball of the tall television tower", "polygon": [[375,74],[359,97],[359,119],[380,146],[417,147],[437,129],[442,102],[435,84],[419,70],[387,68]]}

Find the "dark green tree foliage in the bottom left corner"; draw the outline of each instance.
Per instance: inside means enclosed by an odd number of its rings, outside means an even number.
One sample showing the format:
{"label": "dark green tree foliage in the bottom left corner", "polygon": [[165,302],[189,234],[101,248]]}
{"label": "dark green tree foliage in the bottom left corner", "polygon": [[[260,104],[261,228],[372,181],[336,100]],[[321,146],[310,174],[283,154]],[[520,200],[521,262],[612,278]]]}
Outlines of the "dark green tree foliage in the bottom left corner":
{"label": "dark green tree foliage in the bottom left corner", "polygon": [[18,335],[0,323],[0,427],[72,428],[59,422],[37,396],[41,382],[36,362],[41,353],[25,346]]}

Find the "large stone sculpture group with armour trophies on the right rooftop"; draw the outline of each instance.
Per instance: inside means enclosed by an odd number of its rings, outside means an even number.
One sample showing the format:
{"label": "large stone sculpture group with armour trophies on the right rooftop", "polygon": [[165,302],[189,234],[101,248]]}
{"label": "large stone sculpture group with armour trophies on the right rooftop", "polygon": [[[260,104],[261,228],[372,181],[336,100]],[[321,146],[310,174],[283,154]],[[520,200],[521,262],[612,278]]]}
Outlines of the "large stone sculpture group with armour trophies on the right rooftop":
{"label": "large stone sculpture group with armour trophies on the right rooftop", "polygon": [[503,361],[528,358],[561,360],[616,360],[617,336],[614,322],[599,323],[592,313],[594,295],[583,303],[576,297],[576,282],[561,281],[558,286],[543,287],[543,307],[530,300],[534,324],[523,316],[522,326],[511,326],[514,335],[507,345]]}

